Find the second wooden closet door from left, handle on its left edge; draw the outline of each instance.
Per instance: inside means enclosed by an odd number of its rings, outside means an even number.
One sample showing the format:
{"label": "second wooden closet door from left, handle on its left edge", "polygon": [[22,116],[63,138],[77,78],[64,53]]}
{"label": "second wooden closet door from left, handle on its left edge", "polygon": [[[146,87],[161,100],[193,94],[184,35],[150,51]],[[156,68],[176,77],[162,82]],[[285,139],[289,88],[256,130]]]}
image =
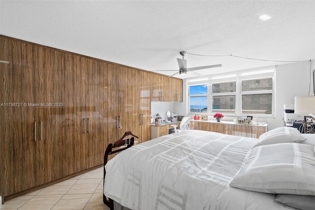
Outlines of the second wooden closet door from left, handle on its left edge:
{"label": "second wooden closet door from left, handle on its left edge", "polygon": [[38,184],[61,178],[59,165],[64,161],[59,156],[64,105],[64,54],[48,47],[36,46],[36,96],[39,103],[36,111],[37,143],[36,174]]}

